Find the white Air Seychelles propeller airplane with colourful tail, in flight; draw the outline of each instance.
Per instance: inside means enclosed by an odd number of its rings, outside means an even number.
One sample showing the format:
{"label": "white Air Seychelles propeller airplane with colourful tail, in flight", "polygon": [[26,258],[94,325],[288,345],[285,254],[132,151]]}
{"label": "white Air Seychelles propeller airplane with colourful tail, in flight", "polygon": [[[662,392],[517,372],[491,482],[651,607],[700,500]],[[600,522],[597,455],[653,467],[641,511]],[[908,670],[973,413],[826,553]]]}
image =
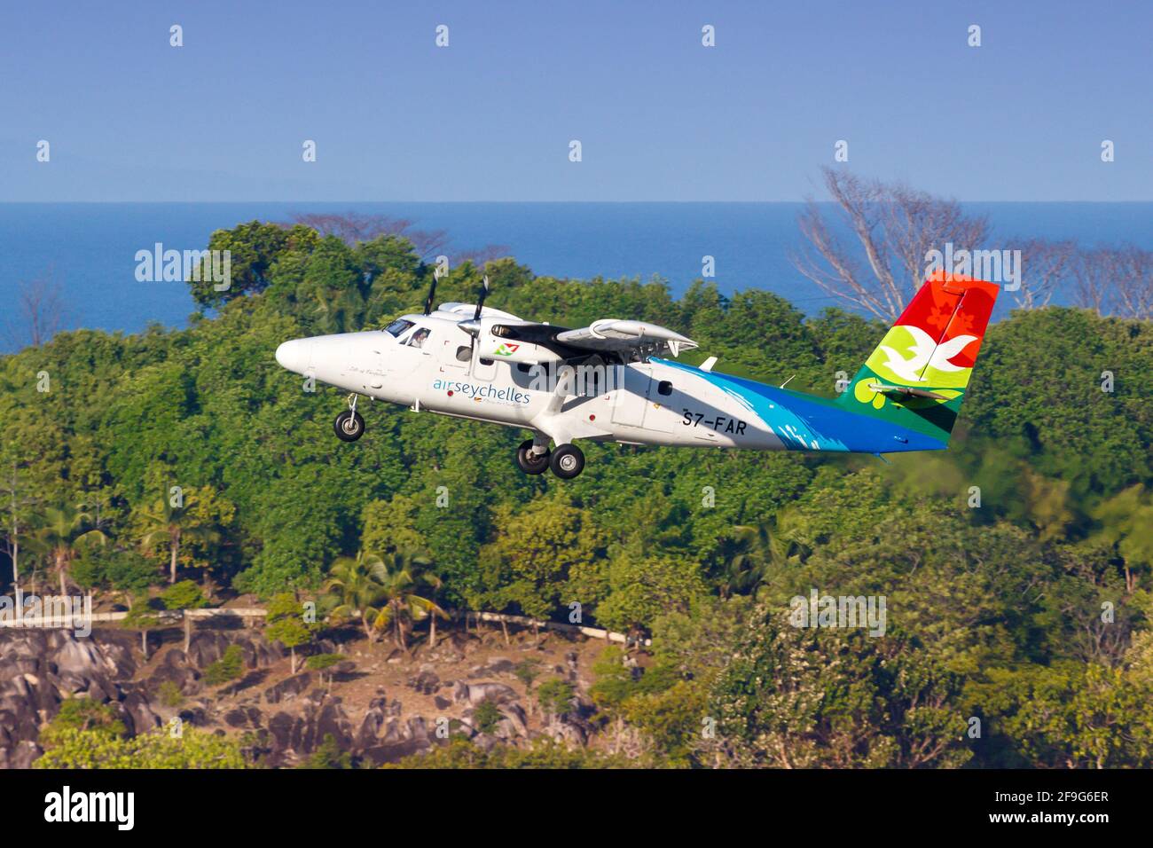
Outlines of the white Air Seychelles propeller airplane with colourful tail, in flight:
{"label": "white Air Seychelles propeller airplane with colourful tail, in flight", "polygon": [[[285,342],[286,369],[351,392],[336,434],[364,433],[366,396],[416,412],[529,430],[526,474],[585,468],[574,442],[889,453],[942,450],[960,406],[997,287],[937,273],[837,398],[792,391],[673,361],[696,343],[643,321],[566,329],[484,306],[432,309],[384,330]],[[665,357],[672,357],[666,359]],[[787,382],[787,381],[785,381]],[[550,448],[551,445],[555,445]]]}

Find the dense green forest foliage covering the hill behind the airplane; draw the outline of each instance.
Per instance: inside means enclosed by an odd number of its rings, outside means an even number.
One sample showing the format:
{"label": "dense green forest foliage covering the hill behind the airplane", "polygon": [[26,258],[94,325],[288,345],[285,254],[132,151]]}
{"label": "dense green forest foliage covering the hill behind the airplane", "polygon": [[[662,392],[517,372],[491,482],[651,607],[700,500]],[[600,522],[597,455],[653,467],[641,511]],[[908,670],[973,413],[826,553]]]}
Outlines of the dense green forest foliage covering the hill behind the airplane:
{"label": "dense green forest foliage covering the hill behind the airplane", "polygon": [[[213,317],[0,359],[6,533],[83,504],[60,565],[80,585],[173,583],[172,600],[202,602],[180,573],[217,599],[326,586],[351,607],[375,569],[390,588],[366,606],[398,643],[404,622],[436,621],[434,594],[558,621],[579,602],[585,623],[653,633],[656,666],[606,661],[597,691],[605,722],[673,765],[1153,764],[1148,322],[1047,308],[992,327],[947,453],[588,445],[585,474],[562,482],[517,472],[520,434],[394,407],[362,404],[367,434],[340,443],[340,392],[277,366],[285,339],[419,309],[432,269],[408,242],[254,223],[210,247],[233,250],[234,273],[227,292],[195,288]],[[806,320],[763,291],[698,283],[673,299],[661,282],[534,277],[511,260],[483,272],[491,306],[658,322],[719,370],[826,393],[882,330]],[[437,299],[472,300],[481,276],[452,269]],[[78,541],[88,528],[107,542]],[[22,583],[53,562],[28,547]],[[790,599],[812,588],[884,595],[886,635],[791,626]]]}

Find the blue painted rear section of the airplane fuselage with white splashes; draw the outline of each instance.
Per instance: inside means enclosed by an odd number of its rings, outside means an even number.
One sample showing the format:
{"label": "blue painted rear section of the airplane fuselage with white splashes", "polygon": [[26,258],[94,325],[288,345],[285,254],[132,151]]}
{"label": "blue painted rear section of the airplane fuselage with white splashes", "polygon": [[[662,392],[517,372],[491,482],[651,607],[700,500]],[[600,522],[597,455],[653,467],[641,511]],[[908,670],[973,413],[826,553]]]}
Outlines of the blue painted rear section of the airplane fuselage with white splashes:
{"label": "blue painted rear section of the airplane fuselage with white splashes", "polygon": [[790,450],[830,450],[853,453],[896,453],[912,450],[943,450],[947,444],[924,433],[889,423],[872,415],[832,406],[831,402],[778,389],[731,374],[654,359],[654,362],[689,372],[716,385],[761,421]]}

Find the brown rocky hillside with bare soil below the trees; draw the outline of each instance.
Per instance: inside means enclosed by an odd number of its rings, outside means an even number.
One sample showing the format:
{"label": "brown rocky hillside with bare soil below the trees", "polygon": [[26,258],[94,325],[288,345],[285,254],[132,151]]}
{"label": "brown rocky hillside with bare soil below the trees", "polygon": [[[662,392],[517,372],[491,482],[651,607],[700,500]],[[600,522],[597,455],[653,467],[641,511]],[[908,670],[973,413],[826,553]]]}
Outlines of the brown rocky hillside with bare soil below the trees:
{"label": "brown rocky hillside with bare soil below the trees", "polygon": [[[0,767],[29,767],[43,753],[40,728],[63,699],[77,697],[113,705],[130,734],[179,719],[240,737],[251,760],[272,767],[299,764],[329,734],[355,760],[395,761],[437,744],[445,720],[482,746],[542,735],[582,745],[593,733],[586,693],[603,643],[529,632],[506,643],[496,629],[457,630],[436,648],[421,645],[409,653],[369,644],[353,631],[346,636],[317,645],[344,661],[323,673],[292,674],[287,653],[255,630],[205,629],[193,635],[187,652],[179,632],[153,632],[148,661],[140,637],[122,630],[95,630],[89,638],[63,630],[0,631]],[[205,669],[229,645],[241,648],[243,675],[209,685]],[[542,713],[515,674],[525,663],[537,682],[559,677],[574,685],[568,715]],[[482,734],[474,712],[485,700],[500,719]]]}

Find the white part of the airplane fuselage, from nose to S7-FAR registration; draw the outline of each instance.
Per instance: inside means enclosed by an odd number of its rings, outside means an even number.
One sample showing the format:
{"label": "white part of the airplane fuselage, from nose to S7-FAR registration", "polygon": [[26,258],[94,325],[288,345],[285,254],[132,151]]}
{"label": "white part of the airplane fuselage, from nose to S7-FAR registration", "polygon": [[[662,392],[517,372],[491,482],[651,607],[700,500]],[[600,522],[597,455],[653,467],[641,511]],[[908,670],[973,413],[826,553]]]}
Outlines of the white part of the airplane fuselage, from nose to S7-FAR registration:
{"label": "white part of the airplane fuselage, from nose to S7-FAR registration", "polygon": [[[787,444],[696,369],[663,360],[578,366],[560,387],[556,363],[481,355],[455,322],[405,316],[430,330],[420,347],[383,330],[300,339],[293,370],[348,392],[457,418],[530,429],[557,444],[626,444],[778,450]],[[461,352],[470,350],[467,359]],[[799,446],[799,445],[798,445]]]}

